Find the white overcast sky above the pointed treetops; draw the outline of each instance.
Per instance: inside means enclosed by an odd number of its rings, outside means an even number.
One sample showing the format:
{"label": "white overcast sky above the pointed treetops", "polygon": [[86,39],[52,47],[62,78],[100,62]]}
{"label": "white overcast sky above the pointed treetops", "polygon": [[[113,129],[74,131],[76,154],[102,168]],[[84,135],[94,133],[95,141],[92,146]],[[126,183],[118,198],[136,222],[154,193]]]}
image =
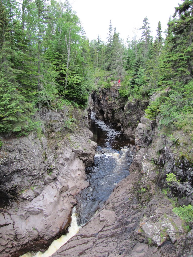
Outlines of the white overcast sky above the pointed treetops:
{"label": "white overcast sky above the pointed treetops", "polygon": [[[107,42],[110,20],[120,38],[126,42],[128,36],[133,37],[133,30],[143,26],[147,16],[152,35],[155,37],[157,24],[160,21],[163,32],[167,29],[169,17],[174,14],[178,3],[182,0],[70,0],[72,9],[81,20],[87,38]],[[141,31],[137,32],[138,38]],[[163,34],[164,37],[164,34]]]}

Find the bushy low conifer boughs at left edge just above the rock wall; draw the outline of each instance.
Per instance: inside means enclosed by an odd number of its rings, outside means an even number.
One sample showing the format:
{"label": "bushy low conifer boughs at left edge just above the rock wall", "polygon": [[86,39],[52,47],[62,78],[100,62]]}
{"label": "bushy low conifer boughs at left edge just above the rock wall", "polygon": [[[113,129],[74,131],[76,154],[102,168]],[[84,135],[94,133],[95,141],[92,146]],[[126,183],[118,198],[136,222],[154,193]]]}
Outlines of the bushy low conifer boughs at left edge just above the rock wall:
{"label": "bushy low conifer boughs at left edge just above the rock wall", "polygon": [[26,135],[39,127],[39,122],[32,121],[36,112],[34,104],[0,74],[0,132],[16,132]]}

